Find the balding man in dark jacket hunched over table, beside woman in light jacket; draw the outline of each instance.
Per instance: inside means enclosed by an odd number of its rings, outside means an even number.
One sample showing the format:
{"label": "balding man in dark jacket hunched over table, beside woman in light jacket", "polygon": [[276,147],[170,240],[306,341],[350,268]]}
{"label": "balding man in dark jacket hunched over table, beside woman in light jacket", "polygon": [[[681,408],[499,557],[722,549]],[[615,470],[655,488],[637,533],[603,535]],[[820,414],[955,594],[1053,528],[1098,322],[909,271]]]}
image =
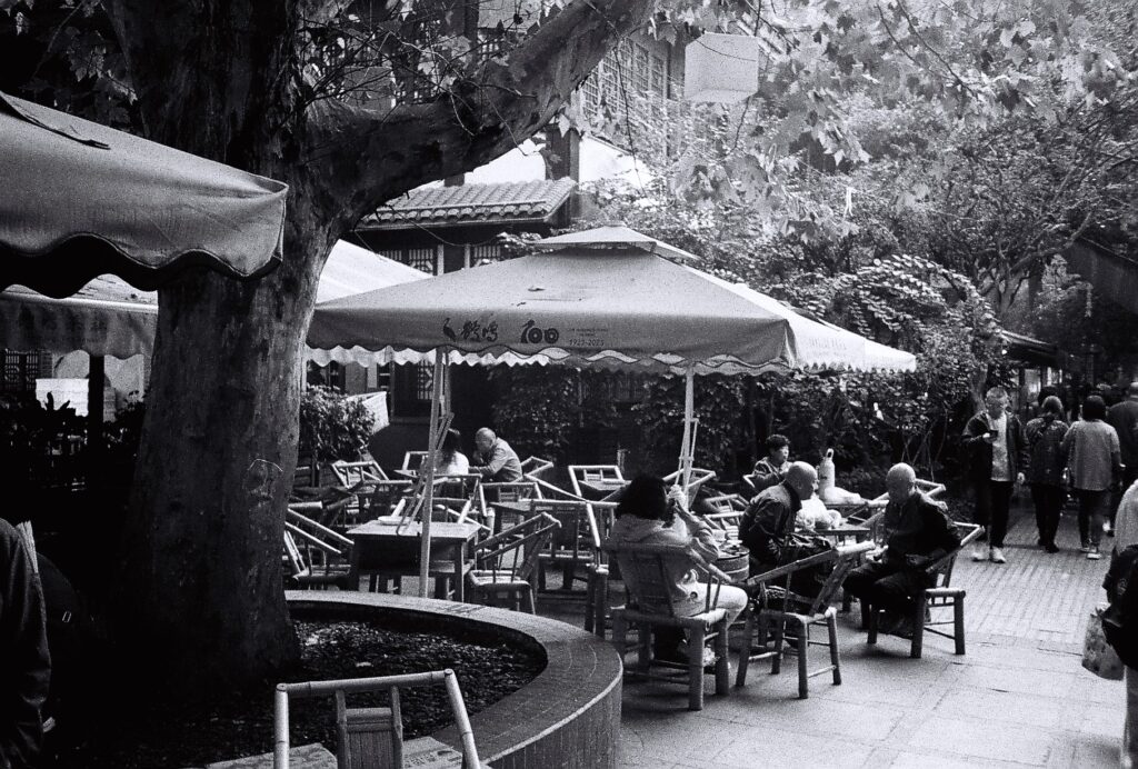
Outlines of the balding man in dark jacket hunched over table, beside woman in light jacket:
{"label": "balding man in dark jacket hunched over table, beside woman in light jacket", "polygon": [[794,516],[818,488],[818,472],[806,462],[793,462],[782,482],[751,499],[739,524],[739,538],[751,551],[751,573],[783,564],[783,548],[794,532]]}

